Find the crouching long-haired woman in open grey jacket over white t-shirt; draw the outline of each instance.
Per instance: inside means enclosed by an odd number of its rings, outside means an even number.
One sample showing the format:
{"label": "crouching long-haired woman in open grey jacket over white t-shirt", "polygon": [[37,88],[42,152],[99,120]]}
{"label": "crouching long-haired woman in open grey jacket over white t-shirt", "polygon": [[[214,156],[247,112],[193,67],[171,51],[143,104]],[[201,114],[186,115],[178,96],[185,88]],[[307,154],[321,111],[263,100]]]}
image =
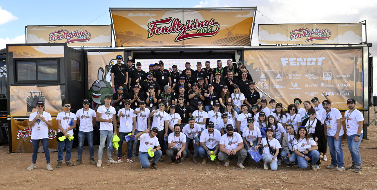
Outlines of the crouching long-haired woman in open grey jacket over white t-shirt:
{"label": "crouching long-haired woman in open grey jacket over white t-shirt", "polygon": [[290,167],[291,164],[293,164],[293,166],[295,167],[297,166],[297,161],[296,161],[297,158],[296,158],[296,153],[294,153],[294,146],[293,146],[294,136],[296,136],[296,132],[293,128],[293,125],[288,124],[287,133],[285,133],[283,137],[283,144],[282,144],[283,150],[282,150],[282,153],[280,154],[280,156],[282,157],[287,167]]}

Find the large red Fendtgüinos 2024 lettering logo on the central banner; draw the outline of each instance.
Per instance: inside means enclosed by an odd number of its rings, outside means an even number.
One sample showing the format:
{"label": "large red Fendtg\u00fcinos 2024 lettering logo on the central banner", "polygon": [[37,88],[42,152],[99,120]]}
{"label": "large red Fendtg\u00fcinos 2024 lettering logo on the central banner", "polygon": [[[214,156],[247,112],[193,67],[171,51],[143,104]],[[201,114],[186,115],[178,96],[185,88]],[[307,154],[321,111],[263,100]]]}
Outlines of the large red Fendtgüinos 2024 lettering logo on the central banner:
{"label": "large red Fendtg\u00fcinos 2024 lettering logo on the central banner", "polygon": [[[170,26],[157,26],[167,24],[170,24]],[[216,30],[213,30],[214,26],[216,26]],[[152,37],[155,34],[160,35],[179,32],[178,36],[174,40],[175,42],[177,42],[190,38],[214,36],[219,32],[220,24],[215,22],[215,19],[211,18],[211,20],[205,21],[198,21],[198,19],[187,20],[186,24],[184,25],[178,18],[173,19],[172,17],[169,17],[148,23],[148,28],[148,38]],[[186,34],[186,32],[193,30],[196,30],[197,32]]]}

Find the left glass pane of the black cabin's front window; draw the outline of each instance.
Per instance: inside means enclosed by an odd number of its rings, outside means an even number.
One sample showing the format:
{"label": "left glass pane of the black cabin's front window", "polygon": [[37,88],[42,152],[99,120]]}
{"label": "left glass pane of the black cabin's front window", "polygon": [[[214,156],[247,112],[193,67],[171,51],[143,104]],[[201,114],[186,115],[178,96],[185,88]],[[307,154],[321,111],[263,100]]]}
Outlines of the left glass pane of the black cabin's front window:
{"label": "left glass pane of the black cabin's front window", "polygon": [[37,80],[35,61],[17,61],[17,80]]}

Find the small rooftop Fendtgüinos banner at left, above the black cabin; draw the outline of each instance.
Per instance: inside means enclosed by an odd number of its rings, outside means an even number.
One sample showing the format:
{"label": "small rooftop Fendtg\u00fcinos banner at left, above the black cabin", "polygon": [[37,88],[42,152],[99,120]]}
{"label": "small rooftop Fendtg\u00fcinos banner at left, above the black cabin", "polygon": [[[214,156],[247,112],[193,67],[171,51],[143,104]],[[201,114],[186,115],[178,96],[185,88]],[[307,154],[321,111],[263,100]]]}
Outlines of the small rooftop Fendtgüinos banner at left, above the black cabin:
{"label": "small rooftop Fendtg\u00fcinos banner at left, above the black cabin", "polygon": [[111,46],[111,26],[26,26],[27,43],[67,43],[71,47]]}

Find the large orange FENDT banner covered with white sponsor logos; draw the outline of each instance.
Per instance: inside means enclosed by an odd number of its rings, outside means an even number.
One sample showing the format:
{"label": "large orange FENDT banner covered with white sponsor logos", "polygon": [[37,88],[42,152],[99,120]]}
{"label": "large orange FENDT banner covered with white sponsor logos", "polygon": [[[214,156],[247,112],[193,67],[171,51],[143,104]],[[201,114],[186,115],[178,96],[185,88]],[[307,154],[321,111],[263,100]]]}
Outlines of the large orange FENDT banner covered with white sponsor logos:
{"label": "large orange FENDT banner covered with white sponsor logos", "polygon": [[256,86],[283,106],[294,98],[322,103],[321,91],[334,108],[348,109],[349,98],[363,106],[361,49],[245,51],[244,57]]}

